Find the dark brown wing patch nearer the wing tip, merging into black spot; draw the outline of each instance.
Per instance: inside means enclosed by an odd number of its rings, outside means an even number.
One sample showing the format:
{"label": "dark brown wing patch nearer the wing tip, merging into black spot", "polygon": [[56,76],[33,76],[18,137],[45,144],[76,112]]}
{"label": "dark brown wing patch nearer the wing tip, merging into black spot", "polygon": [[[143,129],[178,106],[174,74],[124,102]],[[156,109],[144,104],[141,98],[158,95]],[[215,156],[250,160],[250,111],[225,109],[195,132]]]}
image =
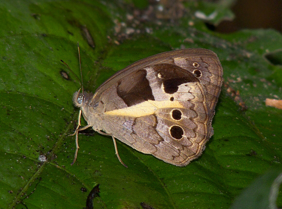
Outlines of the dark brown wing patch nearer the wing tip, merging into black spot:
{"label": "dark brown wing patch nearer the wing tip, merging into black spot", "polygon": [[168,94],[176,93],[182,83],[200,82],[191,72],[177,65],[157,64],[153,68],[160,75],[159,79],[163,83],[164,91]]}

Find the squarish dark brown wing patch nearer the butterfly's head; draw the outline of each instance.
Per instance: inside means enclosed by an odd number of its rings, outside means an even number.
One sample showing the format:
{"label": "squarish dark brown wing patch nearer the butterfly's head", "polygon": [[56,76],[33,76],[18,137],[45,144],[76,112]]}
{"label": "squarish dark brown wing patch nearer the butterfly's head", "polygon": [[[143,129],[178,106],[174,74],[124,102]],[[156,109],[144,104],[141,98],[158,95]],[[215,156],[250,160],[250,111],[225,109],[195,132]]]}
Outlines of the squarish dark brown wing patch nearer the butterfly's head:
{"label": "squarish dark brown wing patch nearer the butterfly's head", "polygon": [[119,80],[117,94],[128,107],[143,101],[155,100],[146,76],[146,70],[139,70]]}

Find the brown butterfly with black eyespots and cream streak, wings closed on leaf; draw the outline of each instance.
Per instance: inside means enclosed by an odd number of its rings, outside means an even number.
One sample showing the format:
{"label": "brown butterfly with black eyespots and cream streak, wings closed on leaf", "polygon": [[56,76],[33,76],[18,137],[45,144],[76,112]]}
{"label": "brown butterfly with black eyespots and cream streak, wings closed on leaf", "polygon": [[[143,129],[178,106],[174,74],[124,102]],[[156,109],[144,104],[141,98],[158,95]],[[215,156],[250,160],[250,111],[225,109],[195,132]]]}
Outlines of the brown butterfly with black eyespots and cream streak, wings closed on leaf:
{"label": "brown butterfly with black eyespots and cream streak, wings closed on leaf", "polygon": [[[111,76],[94,94],[76,92],[75,130],[92,127],[164,162],[186,166],[213,134],[212,117],[223,70],[207,49],[183,49],[141,59]],[[80,126],[83,114],[88,125]],[[72,135],[74,135],[72,134]],[[74,162],[73,161],[73,162]],[[125,165],[124,165],[125,166]]]}

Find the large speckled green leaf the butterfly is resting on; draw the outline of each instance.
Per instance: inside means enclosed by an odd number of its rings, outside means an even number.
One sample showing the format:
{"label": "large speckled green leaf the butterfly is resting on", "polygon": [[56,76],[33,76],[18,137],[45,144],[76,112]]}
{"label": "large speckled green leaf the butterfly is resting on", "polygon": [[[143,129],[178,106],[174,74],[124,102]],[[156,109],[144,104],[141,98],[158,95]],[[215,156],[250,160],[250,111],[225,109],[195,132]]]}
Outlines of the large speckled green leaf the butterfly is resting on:
{"label": "large speckled green leaf the butterfly is resting on", "polygon": [[[143,11],[134,9],[108,0],[0,3],[5,19],[0,29],[0,208],[83,208],[97,184],[94,208],[141,208],[141,203],[156,209],[229,208],[258,176],[281,165],[282,110],[264,102],[282,99],[282,67],[266,56],[279,52],[281,34],[215,34],[194,18],[196,6],[173,21],[126,17]],[[132,62],[160,52],[208,48],[217,53],[225,85],[214,135],[203,154],[180,168],[117,140],[125,168],[112,139],[87,130],[79,134],[71,166],[75,137],[69,134],[78,117],[72,95],[80,88],[77,41],[84,87],[91,92]],[[281,208],[281,190],[277,194]]]}

